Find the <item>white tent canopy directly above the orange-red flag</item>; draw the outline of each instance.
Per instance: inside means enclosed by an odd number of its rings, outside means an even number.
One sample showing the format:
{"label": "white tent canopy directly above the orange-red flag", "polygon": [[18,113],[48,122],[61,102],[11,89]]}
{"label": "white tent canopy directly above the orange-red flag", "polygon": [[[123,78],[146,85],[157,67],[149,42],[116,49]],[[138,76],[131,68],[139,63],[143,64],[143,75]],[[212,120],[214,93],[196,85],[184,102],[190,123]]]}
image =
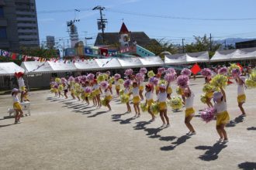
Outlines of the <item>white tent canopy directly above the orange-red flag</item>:
{"label": "white tent canopy directly above the orange-red flag", "polygon": [[186,61],[187,63],[209,62],[209,53],[208,51],[198,53],[187,53]]}

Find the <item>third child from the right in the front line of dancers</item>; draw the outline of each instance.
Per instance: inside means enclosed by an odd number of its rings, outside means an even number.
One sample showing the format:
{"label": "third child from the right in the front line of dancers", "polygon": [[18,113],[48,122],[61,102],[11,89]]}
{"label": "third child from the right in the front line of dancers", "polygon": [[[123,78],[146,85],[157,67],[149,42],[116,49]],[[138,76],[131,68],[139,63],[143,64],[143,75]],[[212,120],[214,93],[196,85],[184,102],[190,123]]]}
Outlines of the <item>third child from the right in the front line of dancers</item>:
{"label": "third child from the right in the front line of dancers", "polygon": [[[168,83],[169,86],[169,83]],[[168,128],[170,126],[169,118],[167,116],[167,89],[164,84],[159,86],[159,93],[157,94],[157,102],[159,103],[159,112],[161,120],[163,121],[163,125],[161,128]],[[167,124],[165,124],[165,121]]]}

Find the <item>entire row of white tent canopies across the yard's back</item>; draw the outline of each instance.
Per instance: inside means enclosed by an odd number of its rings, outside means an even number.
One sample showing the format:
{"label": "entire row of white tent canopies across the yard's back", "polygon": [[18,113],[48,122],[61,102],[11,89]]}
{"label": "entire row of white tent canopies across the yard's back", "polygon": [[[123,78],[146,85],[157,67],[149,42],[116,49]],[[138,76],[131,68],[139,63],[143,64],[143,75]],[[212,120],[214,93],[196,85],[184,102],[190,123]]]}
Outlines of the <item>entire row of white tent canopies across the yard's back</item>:
{"label": "entire row of white tent canopies across the yard's back", "polygon": [[79,60],[75,63],[64,63],[63,60],[57,62],[47,61],[43,63],[40,63],[39,61],[29,61],[23,62],[21,66],[18,66],[15,63],[0,63],[0,76],[10,76],[19,71],[25,72],[26,74],[63,73],[73,71],[112,70],[164,65],[185,65],[189,63],[221,62],[242,59],[256,59],[256,48],[216,51],[212,59],[209,59],[208,52],[199,52],[165,55],[164,61],[160,58],[160,56],[147,56],[90,59],[84,61]]}

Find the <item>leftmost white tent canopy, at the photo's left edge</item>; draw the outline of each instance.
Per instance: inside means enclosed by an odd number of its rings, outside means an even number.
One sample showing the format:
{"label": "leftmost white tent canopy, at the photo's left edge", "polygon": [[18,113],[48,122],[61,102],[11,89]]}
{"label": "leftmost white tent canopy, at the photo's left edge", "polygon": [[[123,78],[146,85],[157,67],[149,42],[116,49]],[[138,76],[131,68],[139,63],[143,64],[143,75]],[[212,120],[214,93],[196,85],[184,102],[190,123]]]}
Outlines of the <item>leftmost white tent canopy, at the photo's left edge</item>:
{"label": "leftmost white tent canopy, at the photo's left edge", "polygon": [[16,63],[0,63],[0,76],[14,76],[16,72],[24,72]]}

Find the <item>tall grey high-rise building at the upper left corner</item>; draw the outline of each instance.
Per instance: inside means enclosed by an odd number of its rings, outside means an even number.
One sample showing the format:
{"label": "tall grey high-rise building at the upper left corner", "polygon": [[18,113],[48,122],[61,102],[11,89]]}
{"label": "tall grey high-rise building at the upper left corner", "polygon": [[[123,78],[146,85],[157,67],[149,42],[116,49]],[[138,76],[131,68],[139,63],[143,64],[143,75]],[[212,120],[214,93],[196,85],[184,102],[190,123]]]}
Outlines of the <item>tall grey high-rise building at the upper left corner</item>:
{"label": "tall grey high-rise building at the upper left corner", "polygon": [[36,0],[0,0],[0,49],[39,45]]}

